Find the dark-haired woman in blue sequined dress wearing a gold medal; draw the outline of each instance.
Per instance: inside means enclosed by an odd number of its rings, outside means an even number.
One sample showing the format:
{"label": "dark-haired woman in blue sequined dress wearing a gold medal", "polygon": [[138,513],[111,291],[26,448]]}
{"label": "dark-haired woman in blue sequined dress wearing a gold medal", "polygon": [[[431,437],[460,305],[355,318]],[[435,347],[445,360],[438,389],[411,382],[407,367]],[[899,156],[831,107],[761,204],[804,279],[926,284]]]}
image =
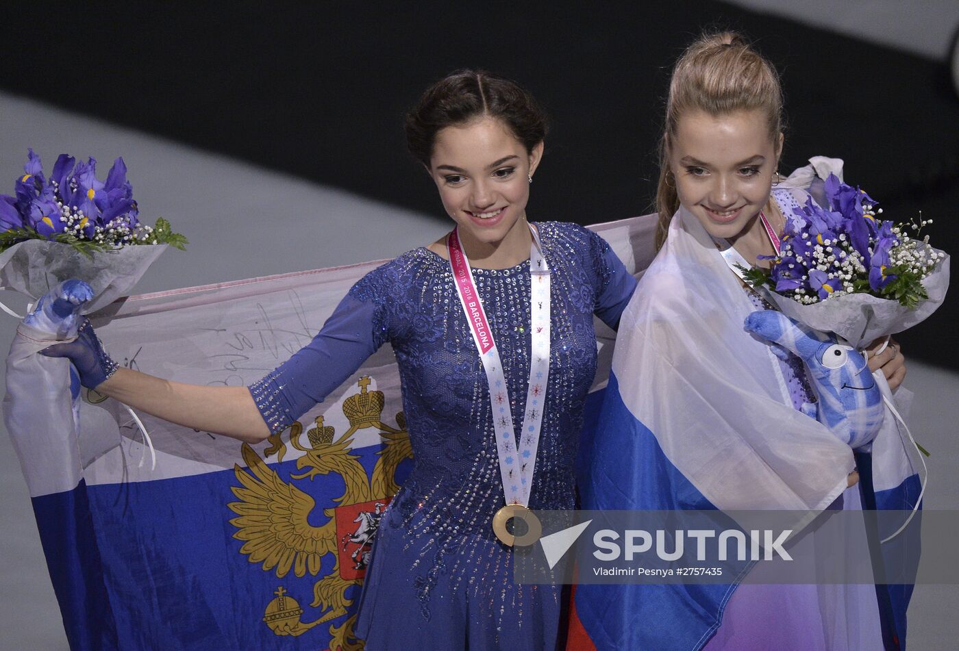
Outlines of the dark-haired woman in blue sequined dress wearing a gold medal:
{"label": "dark-haired woman in blue sequined dress wearing a gold medal", "polygon": [[547,124],[517,84],[456,73],[427,90],[406,128],[456,227],[364,276],[316,338],[260,382],[197,386],[118,369],[88,324],[49,354],[131,407],[256,442],[388,341],[414,468],[381,518],[358,636],[377,650],[553,649],[560,590],[513,582],[503,520],[575,506],[593,317],[616,327],[635,280],[589,230],[526,221]]}

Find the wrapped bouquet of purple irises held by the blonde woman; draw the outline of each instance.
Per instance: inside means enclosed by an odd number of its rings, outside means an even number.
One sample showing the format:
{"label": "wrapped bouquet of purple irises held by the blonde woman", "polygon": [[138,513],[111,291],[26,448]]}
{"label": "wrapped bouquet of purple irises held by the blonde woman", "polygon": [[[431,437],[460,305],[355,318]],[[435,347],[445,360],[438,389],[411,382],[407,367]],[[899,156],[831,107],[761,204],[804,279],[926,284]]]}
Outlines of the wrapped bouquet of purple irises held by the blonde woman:
{"label": "wrapped bouquet of purple irises held by the blonde woman", "polygon": [[842,182],[842,161],[812,163],[784,184],[808,183],[810,194],[784,215],[780,255],[747,280],[787,316],[857,349],[922,322],[942,305],[949,279],[949,257],[921,237],[931,220],[881,220],[875,199]]}

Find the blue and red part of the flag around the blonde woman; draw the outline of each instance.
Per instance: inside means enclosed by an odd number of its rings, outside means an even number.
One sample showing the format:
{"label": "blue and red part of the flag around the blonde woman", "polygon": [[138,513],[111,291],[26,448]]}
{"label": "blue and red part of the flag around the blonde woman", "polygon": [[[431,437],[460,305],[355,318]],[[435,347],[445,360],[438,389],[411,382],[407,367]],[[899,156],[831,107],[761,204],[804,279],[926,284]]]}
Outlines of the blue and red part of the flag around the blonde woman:
{"label": "blue and red part of the flag around the blonde woman", "polygon": [[[587,420],[587,435],[598,443],[591,450],[591,480],[583,484],[583,508],[590,510],[712,510],[708,500],[673,465],[654,433],[636,420],[623,404],[620,383],[611,374],[604,391],[591,395],[595,420]],[[602,418],[599,419],[599,414]],[[590,424],[594,427],[590,427]],[[629,444],[624,441],[629,439]],[[584,440],[584,443],[587,441]],[[628,449],[628,453],[624,453]],[[629,462],[624,463],[628,458]],[[895,486],[873,491],[873,454],[856,455],[866,508],[909,511],[917,505],[921,482],[917,473]],[[890,477],[885,475],[884,477]],[[879,520],[880,525],[886,521]],[[886,526],[878,540],[895,533]],[[915,571],[920,522],[915,518],[892,540],[872,549],[882,566]],[[907,569],[908,570],[908,569]],[[723,610],[735,592],[731,584],[590,585],[575,587],[567,648],[700,649],[721,623]],[[885,637],[905,648],[905,612],[912,585],[877,585],[877,600]]]}

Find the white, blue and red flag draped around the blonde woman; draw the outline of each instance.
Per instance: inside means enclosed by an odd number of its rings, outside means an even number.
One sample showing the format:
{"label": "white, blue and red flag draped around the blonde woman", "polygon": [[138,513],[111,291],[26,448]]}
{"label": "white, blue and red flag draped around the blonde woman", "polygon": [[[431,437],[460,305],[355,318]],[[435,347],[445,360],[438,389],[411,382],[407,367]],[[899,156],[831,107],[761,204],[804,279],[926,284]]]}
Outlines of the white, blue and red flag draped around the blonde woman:
{"label": "white, blue and red flag draped around the blonde woman", "polygon": [[[795,409],[779,361],[742,328],[754,305],[712,242],[690,231],[673,220],[620,320],[608,384],[589,403],[582,507],[777,509],[808,513],[803,524],[844,492],[854,467],[865,508],[918,507],[918,453],[897,419],[887,413],[873,453],[854,459]],[[894,532],[877,532],[877,546]],[[915,564],[918,534],[914,518],[874,559]],[[735,581],[579,585],[568,648],[700,649],[736,590]],[[911,587],[876,593],[884,638],[904,648]]]}

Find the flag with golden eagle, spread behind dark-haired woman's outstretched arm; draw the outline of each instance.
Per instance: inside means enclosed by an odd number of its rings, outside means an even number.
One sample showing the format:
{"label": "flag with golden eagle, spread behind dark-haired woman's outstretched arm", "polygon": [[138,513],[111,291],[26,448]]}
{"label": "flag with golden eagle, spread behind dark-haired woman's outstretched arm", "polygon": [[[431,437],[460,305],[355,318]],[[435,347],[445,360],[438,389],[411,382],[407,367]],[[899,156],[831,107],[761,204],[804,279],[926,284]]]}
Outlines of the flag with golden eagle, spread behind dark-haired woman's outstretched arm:
{"label": "flag with golden eagle, spread behind dark-haired woman's outstretched arm", "polygon": [[[134,296],[92,318],[124,366],[251,384],[377,264]],[[46,337],[21,325],[5,416],[71,649],[355,647],[369,534],[411,468],[389,348],[255,446],[140,414],[152,468],[124,408],[35,354]]]}

